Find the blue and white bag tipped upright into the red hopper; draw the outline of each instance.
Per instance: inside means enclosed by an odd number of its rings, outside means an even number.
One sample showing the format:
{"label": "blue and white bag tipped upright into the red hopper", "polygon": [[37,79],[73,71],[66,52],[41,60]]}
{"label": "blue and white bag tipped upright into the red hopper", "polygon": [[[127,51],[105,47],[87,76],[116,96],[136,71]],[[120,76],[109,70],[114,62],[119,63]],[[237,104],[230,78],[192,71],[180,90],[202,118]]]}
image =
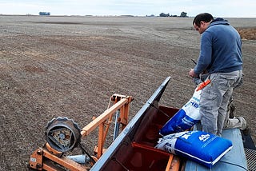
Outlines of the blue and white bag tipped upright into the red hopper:
{"label": "blue and white bag tipped upright into the red hopper", "polygon": [[169,121],[160,129],[160,134],[162,136],[170,133],[178,133],[190,129],[193,125],[200,121],[199,113],[199,101],[202,90],[194,90],[193,97],[186,105],[182,106]]}

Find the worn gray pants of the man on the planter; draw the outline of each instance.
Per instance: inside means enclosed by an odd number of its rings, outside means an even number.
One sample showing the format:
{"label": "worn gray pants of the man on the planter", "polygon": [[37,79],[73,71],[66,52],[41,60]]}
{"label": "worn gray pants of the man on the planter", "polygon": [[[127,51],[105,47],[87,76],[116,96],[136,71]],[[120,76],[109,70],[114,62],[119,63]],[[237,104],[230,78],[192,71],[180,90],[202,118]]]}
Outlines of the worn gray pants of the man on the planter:
{"label": "worn gray pants of the man on the planter", "polygon": [[202,130],[222,136],[226,109],[233,89],[242,78],[242,70],[210,74],[210,84],[202,89],[200,114]]}

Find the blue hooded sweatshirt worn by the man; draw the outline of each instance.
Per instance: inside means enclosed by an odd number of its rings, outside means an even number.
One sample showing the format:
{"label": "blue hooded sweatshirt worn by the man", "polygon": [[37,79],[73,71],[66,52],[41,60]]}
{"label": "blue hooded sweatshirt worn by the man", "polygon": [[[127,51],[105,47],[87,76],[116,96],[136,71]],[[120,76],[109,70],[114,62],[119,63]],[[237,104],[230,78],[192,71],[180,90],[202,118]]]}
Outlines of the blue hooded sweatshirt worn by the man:
{"label": "blue hooded sweatshirt worn by the man", "polygon": [[238,31],[222,18],[216,18],[202,33],[201,51],[195,74],[229,73],[242,70],[242,41]]}

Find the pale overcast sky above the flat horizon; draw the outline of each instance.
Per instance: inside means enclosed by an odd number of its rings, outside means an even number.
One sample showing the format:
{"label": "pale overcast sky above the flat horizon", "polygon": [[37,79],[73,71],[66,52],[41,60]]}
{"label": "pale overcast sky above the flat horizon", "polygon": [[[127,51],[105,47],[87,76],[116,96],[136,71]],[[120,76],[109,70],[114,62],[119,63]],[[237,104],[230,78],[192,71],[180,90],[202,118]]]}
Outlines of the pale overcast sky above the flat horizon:
{"label": "pale overcast sky above the flat horizon", "polygon": [[193,17],[256,18],[255,0],[0,0],[0,14],[134,15],[161,13]]}

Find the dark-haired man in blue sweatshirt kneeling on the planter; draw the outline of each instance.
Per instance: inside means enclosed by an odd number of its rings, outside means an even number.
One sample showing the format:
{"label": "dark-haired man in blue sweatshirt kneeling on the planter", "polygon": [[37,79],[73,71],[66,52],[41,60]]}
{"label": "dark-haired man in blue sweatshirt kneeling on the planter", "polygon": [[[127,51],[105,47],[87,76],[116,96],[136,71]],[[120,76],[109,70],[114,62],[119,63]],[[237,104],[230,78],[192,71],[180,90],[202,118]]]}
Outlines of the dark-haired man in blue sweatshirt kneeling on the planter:
{"label": "dark-haired man in blue sweatshirt kneeling on the planter", "polygon": [[228,119],[227,105],[233,89],[242,79],[242,41],[240,35],[229,22],[214,19],[211,14],[198,14],[193,21],[195,30],[201,37],[201,50],[197,65],[190,70],[192,78],[208,74],[210,84],[202,89],[200,114],[202,130],[222,136],[226,128],[246,129],[243,117]]}

